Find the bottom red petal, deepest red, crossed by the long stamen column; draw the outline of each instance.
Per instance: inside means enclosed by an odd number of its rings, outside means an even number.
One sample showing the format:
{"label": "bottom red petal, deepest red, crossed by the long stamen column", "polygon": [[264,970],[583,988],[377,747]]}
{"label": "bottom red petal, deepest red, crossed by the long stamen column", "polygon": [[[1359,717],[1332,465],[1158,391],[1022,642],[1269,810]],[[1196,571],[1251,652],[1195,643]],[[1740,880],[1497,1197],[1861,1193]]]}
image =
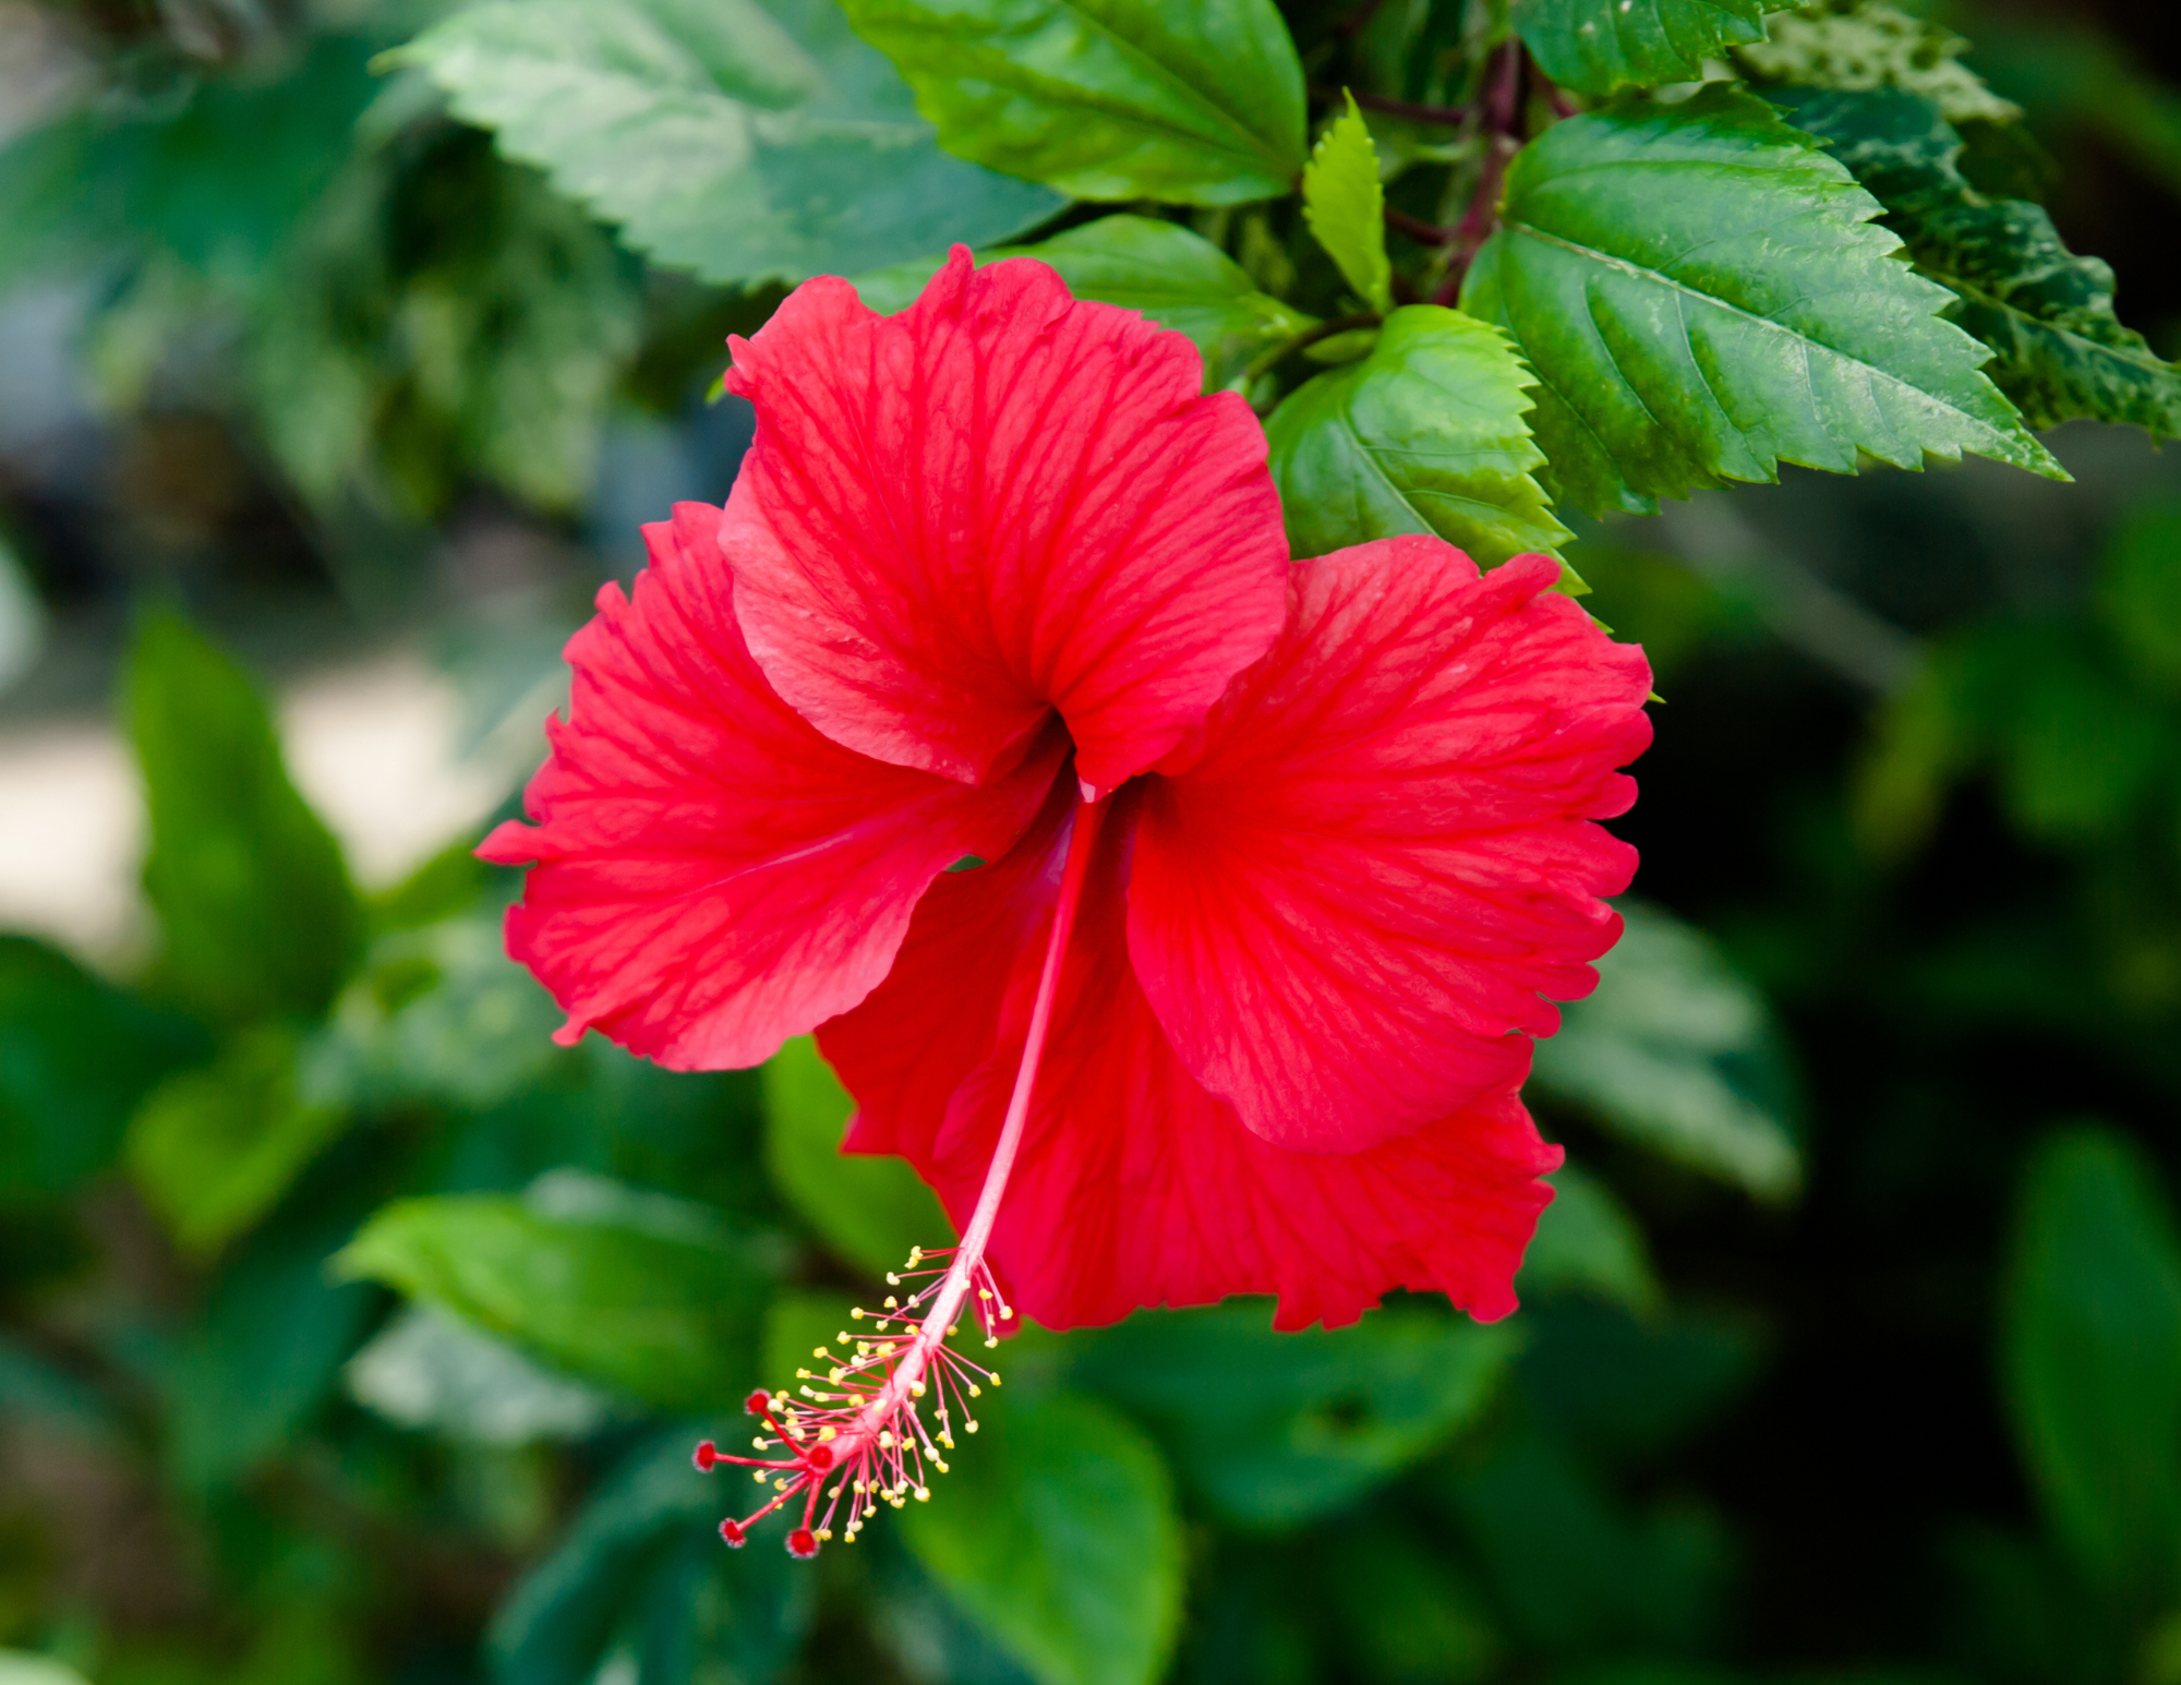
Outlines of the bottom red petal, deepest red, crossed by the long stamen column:
{"label": "bottom red petal, deepest red, crossed by the long stamen column", "polygon": [[[1130,801],[1130,797],[1123,797]],[[1357,1320],[1394,1288],[1492,1320],[1559,1166],[1494,1094],[1367,1152],[1289,1152],[1243,1128],[1173,1054],[1121,934],[1125,816],[1108,818],[1062,971],[990,1259],[1045,1327],[1143,1305],[1278,1294],[1282,1329]],[[818,1041],[859,1102],[848,1148],[901,1152],[968,1218],[1021,1059],[1067,810],[1016,851],[942,880],[894,971]]]}

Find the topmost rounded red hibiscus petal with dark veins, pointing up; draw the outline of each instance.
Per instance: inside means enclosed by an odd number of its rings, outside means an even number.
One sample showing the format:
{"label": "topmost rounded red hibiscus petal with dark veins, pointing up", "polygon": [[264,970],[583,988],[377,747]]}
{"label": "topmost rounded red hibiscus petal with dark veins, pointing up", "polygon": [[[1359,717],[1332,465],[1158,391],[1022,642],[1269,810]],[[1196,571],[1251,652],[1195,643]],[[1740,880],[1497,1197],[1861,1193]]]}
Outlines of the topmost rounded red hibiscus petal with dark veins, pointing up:
{"label": "topmost rounded red hibiscus petal with dark veins, pointing up", "polygon": [[735,607],[835,742],[979,781],[1058,707],[1110,788],[1278,635],[1265,434],[1180,334],[955,247],[899,316],[820,277],[733,349]]}

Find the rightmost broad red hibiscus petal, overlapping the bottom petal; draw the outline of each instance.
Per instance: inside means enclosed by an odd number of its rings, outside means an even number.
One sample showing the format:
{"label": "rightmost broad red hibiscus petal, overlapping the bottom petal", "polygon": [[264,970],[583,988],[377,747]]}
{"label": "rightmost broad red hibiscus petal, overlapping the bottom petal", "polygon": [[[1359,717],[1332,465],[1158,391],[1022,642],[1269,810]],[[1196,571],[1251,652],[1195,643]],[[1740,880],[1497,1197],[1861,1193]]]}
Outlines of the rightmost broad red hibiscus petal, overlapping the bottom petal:
{"label": "rightmost broad red hibiscus petal, overlapping the bottom petal", "polygon": [[1173,1048],[1274,1146],[1354,1152],[1501,1094],[1596,987],[1642,653],[1439,539],[1293,570],[1274,650],[1145,779],[1128,945]]}

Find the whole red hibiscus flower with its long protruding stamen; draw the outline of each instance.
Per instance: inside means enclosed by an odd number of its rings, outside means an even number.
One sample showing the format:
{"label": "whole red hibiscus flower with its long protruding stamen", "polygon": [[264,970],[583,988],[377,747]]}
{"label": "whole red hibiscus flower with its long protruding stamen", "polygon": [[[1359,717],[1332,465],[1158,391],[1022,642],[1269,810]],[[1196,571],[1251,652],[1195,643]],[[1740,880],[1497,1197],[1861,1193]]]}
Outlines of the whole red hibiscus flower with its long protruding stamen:
{"label": "whole red hibiscus flower with its long protruding stamen", "polygon": [[829,1471],[853,1534],[944,1467],[964,1305],[1514,1310],[1559,1163],[1518,1087],[1620,930],[1642,655],[1544,557],[1291,563],[1243,399],[1036,262],[955,251],[899,316],[816,279],[733,351],[735,491],[600,591],[539,823],[484,853],[532,864],[508,947],[565,1039],[816,1028],[848,1150],[962,1229],[833,1393],[752,1397],[792,1547]]}

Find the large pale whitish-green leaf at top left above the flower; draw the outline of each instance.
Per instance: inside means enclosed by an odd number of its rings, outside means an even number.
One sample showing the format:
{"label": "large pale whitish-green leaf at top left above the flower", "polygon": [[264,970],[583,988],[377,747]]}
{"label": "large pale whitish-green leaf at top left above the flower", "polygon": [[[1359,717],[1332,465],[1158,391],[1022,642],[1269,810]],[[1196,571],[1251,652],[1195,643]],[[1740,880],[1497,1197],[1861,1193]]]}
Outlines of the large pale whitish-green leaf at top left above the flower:
{"label": "large pale whitish-green leaf at top left above the flower", "polygon": [[1060,207],[947,157],[822,0],[491,0],[395,57],[630,244],[711,282],[853,273]]}

